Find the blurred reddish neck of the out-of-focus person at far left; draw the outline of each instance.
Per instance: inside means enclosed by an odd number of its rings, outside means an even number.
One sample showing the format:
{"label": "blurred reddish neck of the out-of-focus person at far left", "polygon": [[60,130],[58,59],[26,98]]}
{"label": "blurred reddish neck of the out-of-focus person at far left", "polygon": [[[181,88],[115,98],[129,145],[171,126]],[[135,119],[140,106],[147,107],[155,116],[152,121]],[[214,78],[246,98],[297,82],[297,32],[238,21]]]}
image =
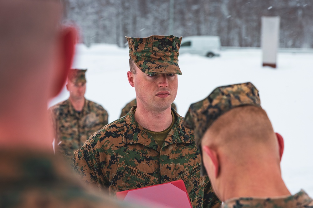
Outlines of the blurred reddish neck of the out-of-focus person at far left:
{"label": "blurred reddish neck of the out-of-focus person at far left", "polygon": [[53,130],[47,103],[40,103],[38,99],[29,103],[20,100],[19,103],[10,102],[8,111],[0,112],[0,147],[11,151],[23,149],[52,153]]}

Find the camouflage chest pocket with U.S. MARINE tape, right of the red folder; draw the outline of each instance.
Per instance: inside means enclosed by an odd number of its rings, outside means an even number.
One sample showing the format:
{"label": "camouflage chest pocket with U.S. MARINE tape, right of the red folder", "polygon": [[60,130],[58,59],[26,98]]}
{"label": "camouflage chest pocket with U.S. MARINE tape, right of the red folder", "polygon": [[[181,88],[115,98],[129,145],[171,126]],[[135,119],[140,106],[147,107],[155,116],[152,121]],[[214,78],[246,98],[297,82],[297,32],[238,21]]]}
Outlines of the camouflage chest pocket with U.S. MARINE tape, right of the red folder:
{"label": "camouflage chest pocket with U.S. MARINE tape, right of the red folder", "polygon": [[200,176],[201,163],[176,177],[183,180],[190,198],[192,207],[203,207],[203,196],[205,186],[208,184],[208,177]]}

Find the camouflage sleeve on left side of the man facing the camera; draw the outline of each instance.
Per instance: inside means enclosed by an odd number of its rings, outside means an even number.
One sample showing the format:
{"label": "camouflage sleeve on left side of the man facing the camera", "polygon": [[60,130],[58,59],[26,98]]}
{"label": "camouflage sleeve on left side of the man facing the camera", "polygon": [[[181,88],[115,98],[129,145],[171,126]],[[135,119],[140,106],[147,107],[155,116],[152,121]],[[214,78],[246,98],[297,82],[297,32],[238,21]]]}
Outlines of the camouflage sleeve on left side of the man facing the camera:
{"label": "camouflage sleeve on left side of the man facing the camera", "polygon": [[[90,141],[92,138],[89,138]],[[91,148],[90,143],[86,142],[83,147],[74,152],[73,160],[74,172],[76,172],[86,185],[94,184],[101,190],[102,187],[108,187],[108,182],[105,180],[101,167],[95,158],[95,152]]]}

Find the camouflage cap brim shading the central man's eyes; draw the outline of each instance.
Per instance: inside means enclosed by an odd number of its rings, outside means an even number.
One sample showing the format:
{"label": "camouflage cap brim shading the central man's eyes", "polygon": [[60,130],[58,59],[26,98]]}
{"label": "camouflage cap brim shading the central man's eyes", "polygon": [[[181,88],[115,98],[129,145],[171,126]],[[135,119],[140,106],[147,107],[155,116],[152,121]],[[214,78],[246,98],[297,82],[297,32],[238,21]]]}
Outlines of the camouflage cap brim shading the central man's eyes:
{"label": "camouflage cap brim shading the central man's eyes", "polygon": [[178,60],[135,60],[135,64],[146,74],[177,74],[182,75]]}

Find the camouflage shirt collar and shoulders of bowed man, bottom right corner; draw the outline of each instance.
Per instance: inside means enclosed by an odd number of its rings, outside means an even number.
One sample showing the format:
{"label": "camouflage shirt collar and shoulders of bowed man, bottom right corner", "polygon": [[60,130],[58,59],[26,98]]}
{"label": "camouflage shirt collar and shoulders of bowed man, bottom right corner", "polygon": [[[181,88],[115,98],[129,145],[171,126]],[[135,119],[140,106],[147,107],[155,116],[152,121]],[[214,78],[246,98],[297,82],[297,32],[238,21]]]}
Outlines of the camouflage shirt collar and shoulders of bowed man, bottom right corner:
{"label": "camouflage shirt collar and shoulders of bowed man, bottom right corner", "polygon": [[313,200],[301,190],[291,196],[275,198],[242,197],[226,200],[221,208],[312,208]]}

